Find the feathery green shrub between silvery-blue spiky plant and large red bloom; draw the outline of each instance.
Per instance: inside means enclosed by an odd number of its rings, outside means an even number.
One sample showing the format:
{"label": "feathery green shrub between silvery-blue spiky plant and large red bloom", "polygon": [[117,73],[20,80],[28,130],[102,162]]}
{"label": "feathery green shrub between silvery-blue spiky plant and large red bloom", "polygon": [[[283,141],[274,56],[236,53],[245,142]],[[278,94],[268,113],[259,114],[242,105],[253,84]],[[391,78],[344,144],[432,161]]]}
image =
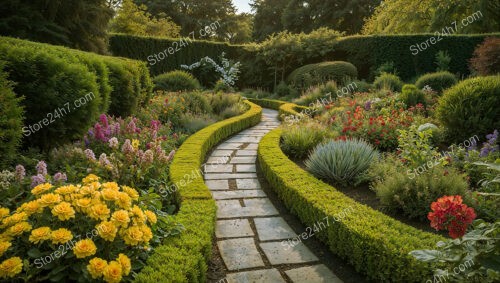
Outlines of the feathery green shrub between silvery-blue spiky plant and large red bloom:
{"label": "feathery green shrub between silvery-blue spiky plant and large red bloom", "polygon": [[[389,212],[403,212],[409,218],[425,219],[432,202],[445,195],[467,195],[467,182],[453,168],[434,166],[408,169],[399,160],[388,157],[375,163],[369,175],[378,176],[372,189]],[[425,167],[425,168],[424,168]]]}

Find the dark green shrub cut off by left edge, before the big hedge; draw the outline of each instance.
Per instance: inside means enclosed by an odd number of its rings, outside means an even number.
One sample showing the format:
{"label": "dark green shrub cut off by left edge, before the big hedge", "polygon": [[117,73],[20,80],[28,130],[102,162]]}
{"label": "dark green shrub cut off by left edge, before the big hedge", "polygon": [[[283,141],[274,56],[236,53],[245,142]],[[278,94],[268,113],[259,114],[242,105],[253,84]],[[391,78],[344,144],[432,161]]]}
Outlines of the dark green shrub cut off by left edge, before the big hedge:
{"label": "dark green shrub cut off by left edge, before the big hedge", "polygon": [[16,97],[0,62],[0,169],[14,159],[23,133],[22,98]]}

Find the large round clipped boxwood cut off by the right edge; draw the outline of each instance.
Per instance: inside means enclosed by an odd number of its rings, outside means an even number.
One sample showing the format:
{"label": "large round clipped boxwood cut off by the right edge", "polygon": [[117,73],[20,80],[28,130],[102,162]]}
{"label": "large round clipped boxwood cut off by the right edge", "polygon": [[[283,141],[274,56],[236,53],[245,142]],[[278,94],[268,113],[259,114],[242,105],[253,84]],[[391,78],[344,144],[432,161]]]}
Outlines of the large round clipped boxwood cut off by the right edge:
{"label": "large round clipped boxwood cut off by the right edge", "polygon": [[500,75],[464,80],[446,90],[436,116],[453,142],[500,129]]}

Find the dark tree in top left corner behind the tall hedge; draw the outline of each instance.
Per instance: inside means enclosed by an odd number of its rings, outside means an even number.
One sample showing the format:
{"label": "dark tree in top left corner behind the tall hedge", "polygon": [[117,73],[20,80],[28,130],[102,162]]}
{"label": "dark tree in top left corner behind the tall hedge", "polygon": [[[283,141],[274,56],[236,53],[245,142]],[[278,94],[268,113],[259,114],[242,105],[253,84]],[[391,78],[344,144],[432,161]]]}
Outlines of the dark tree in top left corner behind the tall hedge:
{"label": "dark tree in top left corner behind the tall hedge", "polygon": [[113,9],[106,0],[3,0],[0,34],[106,52]]}

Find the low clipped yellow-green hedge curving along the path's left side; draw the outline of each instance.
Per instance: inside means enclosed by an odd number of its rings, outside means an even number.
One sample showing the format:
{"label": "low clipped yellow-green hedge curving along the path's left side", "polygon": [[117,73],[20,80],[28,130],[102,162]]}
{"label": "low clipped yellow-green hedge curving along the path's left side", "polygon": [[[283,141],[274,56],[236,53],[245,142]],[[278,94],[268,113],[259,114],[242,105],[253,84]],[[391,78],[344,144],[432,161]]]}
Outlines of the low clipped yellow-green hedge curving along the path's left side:
{"label": "low clipped yellow-green hedge curving along the path's left side", "polygon": [[[135,282],[205,282],[206,263],[212,254],[216,206],[200,168],[213,146],[259,123],[262,108],[248,101],[245,103],[250,108],[247,112],[198,131],[175,154],[170,165],[170,179],[179,188],[175,193],[180,210],[173,221],[181,223],[185,230],[167,238],[164,245],[156,248]],[[191,177],[193,175],[198,177]]]}

